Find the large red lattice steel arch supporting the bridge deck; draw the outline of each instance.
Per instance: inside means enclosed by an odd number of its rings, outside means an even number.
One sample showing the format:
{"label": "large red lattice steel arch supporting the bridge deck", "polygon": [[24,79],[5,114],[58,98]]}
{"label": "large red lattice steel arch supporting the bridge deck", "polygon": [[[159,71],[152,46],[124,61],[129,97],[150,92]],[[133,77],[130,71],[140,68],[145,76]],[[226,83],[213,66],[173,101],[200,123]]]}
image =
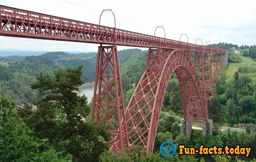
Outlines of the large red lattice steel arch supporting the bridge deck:
{"label": "large red lattice steel arch supporting the bridge deck", "polygon": [[127,106],[125,116],[129,146],[142,145],[153,152],[163,97],[172,73],[180,83],[184,119],[208,121],[200,81],[182,50],[148,50],[146,70]]}

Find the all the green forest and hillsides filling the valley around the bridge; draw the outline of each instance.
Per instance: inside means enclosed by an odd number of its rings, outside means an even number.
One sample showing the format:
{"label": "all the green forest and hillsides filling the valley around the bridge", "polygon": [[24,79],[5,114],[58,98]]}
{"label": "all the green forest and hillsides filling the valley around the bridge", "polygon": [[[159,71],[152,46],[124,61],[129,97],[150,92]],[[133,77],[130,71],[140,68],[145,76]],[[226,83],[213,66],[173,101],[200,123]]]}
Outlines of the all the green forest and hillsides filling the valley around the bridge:
{"label": "all the green forest and hillsides filling the valley around the bridge", "polygon": [[[229,62],[241,62],[240,55],[254,58],[254,46],[219,43],[212,47],[230,51]],[[248,54],[248,53],[249,54]],[[127,105],[145,70],[147,51],[119,51],[124,104]],[[57,61],[57,62],[56,62]],[[57,64],[58,63],[58,64]],[[255,63],[256,64],[256,63]],[[202,137],[192,131],[188,139],[180,134],[183,118],[180,87],[173,74],[163,100],[157,127],[154,152],[148,155],[139,146],[126,154],[111,154],[106,125],[91,125],[87,97],[75,91],[84,82],[93,82],[96,53],[64,52],[26,56],[20,61],[0,64],[0,161],[256,161],[256,83],[249,74],[255,68],[246,65],[231,78],[223,74],[215,85],[215,98],[209,102],[209,115],[215,128],[213,136]],[[33,104],[35,104],[35,106]],[[19,105],[17,107],[16,105]],[[252,123],[246,131],[221,131],[221,125]],[[194,146],[248,146],[249,158],[243,155],[160,155],[165,142]]]}

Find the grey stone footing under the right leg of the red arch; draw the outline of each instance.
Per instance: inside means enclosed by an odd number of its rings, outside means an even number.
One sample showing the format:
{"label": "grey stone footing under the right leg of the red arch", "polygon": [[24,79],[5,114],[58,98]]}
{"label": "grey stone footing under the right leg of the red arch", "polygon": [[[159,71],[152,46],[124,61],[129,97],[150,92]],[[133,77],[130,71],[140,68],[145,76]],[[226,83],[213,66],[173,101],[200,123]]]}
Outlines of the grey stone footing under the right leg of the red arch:
{"label": "grey stone footing under the right leg of the red arch", "polygon": [[197,124],[203,130],[203,137],[207,135],[213,135],[213,120],[209,119],[208,122],[203,121],[185,121],[182,119],[181,121],[181,134],[190,138],[192,133],[192,125]]}

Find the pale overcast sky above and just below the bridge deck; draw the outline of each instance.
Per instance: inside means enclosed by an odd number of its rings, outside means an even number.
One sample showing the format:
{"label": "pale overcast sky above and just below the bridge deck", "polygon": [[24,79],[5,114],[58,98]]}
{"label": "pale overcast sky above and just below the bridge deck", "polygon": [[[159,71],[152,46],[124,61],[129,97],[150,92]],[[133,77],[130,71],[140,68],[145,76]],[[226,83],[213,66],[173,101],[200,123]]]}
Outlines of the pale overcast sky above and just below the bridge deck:
{"label": "pale overcast sky above and just below the bridge deck", "polygon": [[[116,28],[154,35],[163,26],[165,37],[180,40],[185,33],[189,43],[256,44],[256,1],[185,0],[0,0],[1,5],[99,24],[102,10],[111,9]],[[100,25],[114,27],[112,13],[102,14]],[[164,37],[157,28],[156,36]],[[187,41],[185,36],[181,41]],[[35,40],[0,36],[1,49],[97,52],[98,44]],[[207,43],[208,44],[208,43]],[[118,46],[118,50],[131,47]]]}

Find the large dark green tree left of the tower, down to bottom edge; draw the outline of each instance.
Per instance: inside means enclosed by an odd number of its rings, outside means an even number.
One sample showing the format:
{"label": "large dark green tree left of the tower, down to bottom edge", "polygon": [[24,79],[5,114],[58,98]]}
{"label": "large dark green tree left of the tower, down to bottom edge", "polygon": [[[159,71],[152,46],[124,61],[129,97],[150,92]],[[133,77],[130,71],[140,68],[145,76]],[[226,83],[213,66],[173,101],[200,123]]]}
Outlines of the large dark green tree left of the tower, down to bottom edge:
{"label": "large dark green tree left of the tower, down to bottom edge", "polygon": [[90,107],[87,97],[78,96],[82,66],[58,69],[54,76],[40,73],[32,83],[42,99],[37,102],[37,111],[32,127],[59,150],[69,152],[75,161],[97,161],[108,149],[109,136],[105,127],[84,122]]}

